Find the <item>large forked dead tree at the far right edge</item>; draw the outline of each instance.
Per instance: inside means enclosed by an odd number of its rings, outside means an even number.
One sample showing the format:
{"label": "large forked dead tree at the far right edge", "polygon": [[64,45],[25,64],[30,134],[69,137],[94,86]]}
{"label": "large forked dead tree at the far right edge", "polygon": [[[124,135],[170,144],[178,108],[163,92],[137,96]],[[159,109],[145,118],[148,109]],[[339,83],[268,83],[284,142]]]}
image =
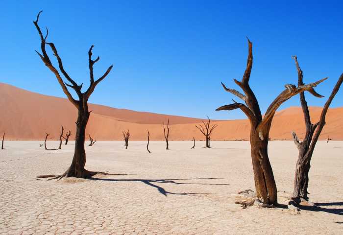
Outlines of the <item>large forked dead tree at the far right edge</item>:
{"label": "large forked dead tree at the far right edge", "polygon": [[[299,67],[296,56],[294,56],[294,60],[295,60],[296,70],[298,73],[298,86],[304,86],[303,72],[301,71]],[[309,184],[309,171],[311,167],[310,163],[311,163],[312,154],[315,149],[316,143],[319,139],[321,130],[323,129],[325,125],[325,116],[326,116],[327,110],[331,104],[331,101],[333,100],[337,92],[339,91],[342,85],[342,82],[343,82],[343,74],[338,79],[335,87],[332,90],[332,93],[330,94],[330,97],[326,101],[321,111],[319,121],[316,122],[315,124],[312,124],[311,122],[309,109],[308,109],[307,102],[305,99],[305,94],[303,92],[300,93],[300,103],[301,103],[302,111],[304,114],[306,134],[303,141],[300,142],[296,134],[294,132],[292,133],[294,143],[299,150],[298,160],[295,166],[294,190],[292,194],[292,200],[294,200],[296,203],[302,200],[308,200],[307,188]],[[315,94],[317,97],[323,97],[320,94],[317,94],[314,90],[310,90],[310,92],[311,94]],[[329,137],[327,141],[329,141]]]}

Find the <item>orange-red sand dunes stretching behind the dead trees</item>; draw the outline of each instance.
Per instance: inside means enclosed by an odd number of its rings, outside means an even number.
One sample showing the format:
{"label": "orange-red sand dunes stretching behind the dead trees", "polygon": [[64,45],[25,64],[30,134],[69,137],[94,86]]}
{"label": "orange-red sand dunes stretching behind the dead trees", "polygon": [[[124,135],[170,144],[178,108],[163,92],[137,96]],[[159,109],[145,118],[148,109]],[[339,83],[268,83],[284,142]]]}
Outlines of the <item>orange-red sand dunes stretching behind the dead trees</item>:
{"label": "orange-red sand dunes stretching behind the dead trees", "polygon": [[[129,129],[130,140],[146,140],[147,129],[150,140],[164,140],[162,122],[170,119],[170,140],[203,140],[195,125],[198,118],[186,118],[147,112],[116,109],[103,105],[90,104],[93,110],[87,126],[87,133],[94,139],[122,140],[122,131]],[[6,140],[44,140],[45,133],[50,140],[59,139],[61,125],[72,130],[74,137],[76,109],[64,98],[32,93],[4,83],[0,83],[0,132],[6,132]],[[310,107],[312,121],[318,120],[321,108]],[[343,107],[329,109],[326,125],[320,139],[330,136],[333,140],[343,140]],[[212,140],[248,140],[249,122],[246,119],[215,121],[220,124]],[[299,138],[305,132],[303,114],[300,107],[291,107],[278,112],[273,120],[270,138],[291,140],[291,132]]]}

